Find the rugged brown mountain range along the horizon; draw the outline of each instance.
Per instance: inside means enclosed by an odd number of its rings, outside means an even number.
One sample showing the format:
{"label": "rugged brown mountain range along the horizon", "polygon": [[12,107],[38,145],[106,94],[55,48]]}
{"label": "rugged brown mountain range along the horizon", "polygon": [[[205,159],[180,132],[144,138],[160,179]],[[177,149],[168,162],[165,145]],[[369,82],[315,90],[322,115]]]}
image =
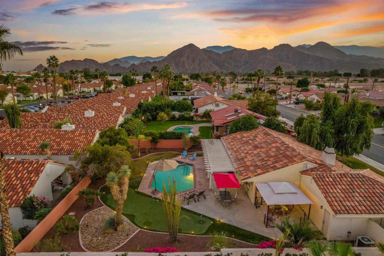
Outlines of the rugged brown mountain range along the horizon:
{"label": "rugged brown mountain range along the horizon", "polygon": [[[157,61],[153,61],[152,57],[136,56],[114,59],[103,64],[92,59],[69,60],[60,63],[59,71],[68,72],[70,69],[81,70],[83,68],[90,68],[94,70],[99,68],[109,73],[128,73],[129,70],[135,68],[139,72],[148,72],[153,65],[157,65],[161,70],[162,66],[166,63],[171,66],[172,71],[175,73],[210,71],[247,73],[255,71],[257,68],[273,71],[278,65],[283,66],[286,71],[328,71],[337,69],[340,72],[358,73],[361,68],[373,69],[384,67],[384,58],[346,54],[325,42],[318,42],[314,45],[298,45],[296,47],[292,47],[289,44],[281,44],[270,50],[267,48],[257,50],[233,48],[232,50],[223,51],[226,47],[207,48],[210,48],[210,50],[200,49],[190,43],[174,50],[164,58],[156,57],[161,58]],[[222,51],[222,53],[215,51]],[[132,65],[127,67],[128,63],[132,63]],[[42,65],[39,65],[36,67],[36,70],[41,71],[42,67]]]}

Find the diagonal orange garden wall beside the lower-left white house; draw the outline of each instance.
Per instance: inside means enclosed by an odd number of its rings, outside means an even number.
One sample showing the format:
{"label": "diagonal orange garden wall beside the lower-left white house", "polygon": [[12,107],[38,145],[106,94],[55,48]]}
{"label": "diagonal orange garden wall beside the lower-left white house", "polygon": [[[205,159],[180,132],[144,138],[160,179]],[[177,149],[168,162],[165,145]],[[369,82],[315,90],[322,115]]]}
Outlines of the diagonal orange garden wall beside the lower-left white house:
{"label": "diagonal orange garden wall beside the lower-left white house", "polygon": [[76,195],[80,190],[88,187],[91,179],[85,177],[76,185],[73,190],[53,210],[32,230],[26,238],[16,246],[16,253],[28,253],[33,249],[33,244],[40,241],[41,238],[50,230],[53,225],[64,215],[74,201],[78,198]]}

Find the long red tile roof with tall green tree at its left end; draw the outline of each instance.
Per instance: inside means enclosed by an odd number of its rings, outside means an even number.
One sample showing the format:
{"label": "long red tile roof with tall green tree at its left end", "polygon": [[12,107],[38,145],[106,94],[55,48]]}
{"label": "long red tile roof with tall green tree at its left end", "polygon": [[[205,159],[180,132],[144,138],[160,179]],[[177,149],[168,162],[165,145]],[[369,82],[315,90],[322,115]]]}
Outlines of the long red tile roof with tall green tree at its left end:
{"label": "long red tile roof with tall green tree at its left end", "polygon": [[[22,113],[22,128],[53,129],[56,121],[62,121],[69,117],[75,125],[75,129],[107,129],[109,126],[117,126],[121,115],[95,114],[84,116],[84,113],[50,113],[50,112],[24,112]],[[0,123],[0,128],[10,129],[8,119]]]}

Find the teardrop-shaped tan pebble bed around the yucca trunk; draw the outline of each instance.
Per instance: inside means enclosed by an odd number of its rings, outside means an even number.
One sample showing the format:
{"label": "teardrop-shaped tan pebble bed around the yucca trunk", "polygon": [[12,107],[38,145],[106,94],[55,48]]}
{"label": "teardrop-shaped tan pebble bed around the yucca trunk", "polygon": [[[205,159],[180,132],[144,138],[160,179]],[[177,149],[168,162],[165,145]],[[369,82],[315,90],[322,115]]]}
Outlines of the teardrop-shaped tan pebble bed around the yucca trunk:
{"label": "teardrop-shaped tan pebble bed around the yucca trunk", "polygon": [[104,221],[114,214],[114,211],[106,206],[95,209],[84,216],[80,223],[80,239],[84,248],[88,251],[111,251],[134,234],[138,228],[126,217],[121,216],[124,227],[116,232],[105,232]]}

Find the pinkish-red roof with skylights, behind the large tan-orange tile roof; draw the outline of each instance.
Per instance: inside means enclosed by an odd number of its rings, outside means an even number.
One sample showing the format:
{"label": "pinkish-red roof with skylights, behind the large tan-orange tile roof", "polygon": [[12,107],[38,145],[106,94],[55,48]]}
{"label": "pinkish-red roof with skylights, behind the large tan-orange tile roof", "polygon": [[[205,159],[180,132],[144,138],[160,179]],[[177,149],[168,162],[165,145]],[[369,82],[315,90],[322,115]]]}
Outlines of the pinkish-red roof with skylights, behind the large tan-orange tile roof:
{"label": "pinkish-red roof with skylights, behind the large tan-orange tile roof", "polygon": [[[229,123],[229,122],[235,121],[235,120],[237,120],[239,118],[242,118],[244,116],[244,115],[242,115],[242,116],[238,116],[236,118],[233,118],[235,116],[235,115],[233,115],[235,109],[237,109],[239,111],[239,113],[237,115],[240,115],[240,114],[245,114],[245,115],[253,114],[253,116],[255,116],[255,118],[257,120],[265,121],[266,116],[254,113],[254,112],[249,111],[249,110],[247,110],[245,108],[239,108],[238,106],[234,106],[234,105],[227,106],[225,108],[212,111],[209,114],[212,117],[212,121],[214,122],[215,126],[222,126],[225,123]],[[230,119],[228,120],[228,118],[230,118]]]}

